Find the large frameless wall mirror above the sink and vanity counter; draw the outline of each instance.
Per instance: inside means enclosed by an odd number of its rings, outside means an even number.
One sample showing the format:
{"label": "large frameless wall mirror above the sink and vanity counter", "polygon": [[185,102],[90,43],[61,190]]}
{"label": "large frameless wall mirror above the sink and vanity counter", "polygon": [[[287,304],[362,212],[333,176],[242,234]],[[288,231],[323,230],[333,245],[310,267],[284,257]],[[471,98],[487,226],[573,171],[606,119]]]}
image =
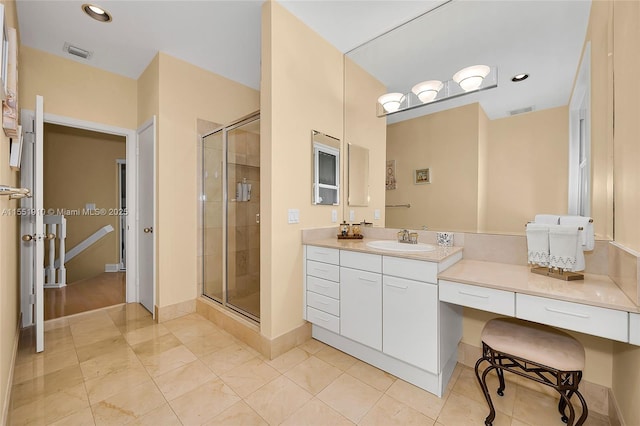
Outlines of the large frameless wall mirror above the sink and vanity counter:
{"label": "large frameless wall mirror above the sink and vanity counter", "polygon": [[[386,204],[411,206],[387,207],[385,226],[524,234],[536,213],[567,214],[569,103],[593,38],[590,211],[597,237],[611,239],[605,127],[612,80],[607,35],[590,34],[607,21],[606,8],[595,13],[590,1],[453,0],[347,53],[387,92],[451,80],[470,65],[498,70],[497,88],[380,118],[387,122],[386,158],[396,167]],[[519,74],[528,77],[512,81]],[[356,82],[346,79],[350,84]],[[427,168],[431,183],[416,183],[416,170]]]}

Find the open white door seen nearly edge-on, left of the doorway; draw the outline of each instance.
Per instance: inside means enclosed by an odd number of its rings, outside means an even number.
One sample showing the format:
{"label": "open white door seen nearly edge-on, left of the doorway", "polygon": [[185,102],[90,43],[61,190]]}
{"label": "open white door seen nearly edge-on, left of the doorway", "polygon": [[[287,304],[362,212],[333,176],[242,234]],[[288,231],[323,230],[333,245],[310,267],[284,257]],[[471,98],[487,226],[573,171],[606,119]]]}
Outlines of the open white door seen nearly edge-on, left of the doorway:
{"label": "open white door seen nearly edge-on, left of the doorway", "polygon": [[43,105],[42,96],[36,96],[35,114],[24,111],[21,117],[25,138],[20,184],[31,190],[31,198],[20,204],[21,310],[23,326],[36,327],[37,352],[44,350]]}

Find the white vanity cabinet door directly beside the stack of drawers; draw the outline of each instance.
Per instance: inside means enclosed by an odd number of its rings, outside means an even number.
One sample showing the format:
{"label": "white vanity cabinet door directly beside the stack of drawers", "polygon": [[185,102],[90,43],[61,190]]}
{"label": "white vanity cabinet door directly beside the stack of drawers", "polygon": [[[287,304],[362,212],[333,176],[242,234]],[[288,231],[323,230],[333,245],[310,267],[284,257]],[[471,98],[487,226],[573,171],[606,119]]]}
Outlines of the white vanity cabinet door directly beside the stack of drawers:
{"label": "white vanity cabinet door directly beside the stack of drawers", "polygon": [[340,334],[382,350],[382,276],[340,268]]}

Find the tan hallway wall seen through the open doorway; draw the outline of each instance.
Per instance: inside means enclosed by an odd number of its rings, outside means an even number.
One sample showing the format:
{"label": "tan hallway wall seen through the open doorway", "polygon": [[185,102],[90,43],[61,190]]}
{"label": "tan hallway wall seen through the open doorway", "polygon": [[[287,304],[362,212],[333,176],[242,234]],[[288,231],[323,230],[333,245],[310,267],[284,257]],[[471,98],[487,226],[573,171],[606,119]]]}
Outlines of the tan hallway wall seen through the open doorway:
{"label": "tan hallway wall seen through the open doorway", "polygon": [[[105,264],[120,262],[116,160],[126,158],[125,138],[45,124],[43,150],[44,208],[80,211],[66,215],[67,250],[98,229],[113,226],[113,232],[66,263],[67,283],[96,276],[104,272]],[[87,203],[107,214],[83,214]]]}

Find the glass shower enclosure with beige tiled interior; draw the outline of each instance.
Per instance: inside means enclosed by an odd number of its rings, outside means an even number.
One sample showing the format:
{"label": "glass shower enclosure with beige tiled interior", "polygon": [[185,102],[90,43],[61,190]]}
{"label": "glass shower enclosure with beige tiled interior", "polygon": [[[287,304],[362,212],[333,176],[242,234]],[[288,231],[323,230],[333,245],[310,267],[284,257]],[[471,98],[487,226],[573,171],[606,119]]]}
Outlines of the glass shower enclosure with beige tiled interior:
{"label": "glass shower enclosure with beige tiled interior", "polygon": [[260,320],[260,114],[203,137],[203,293]]}

